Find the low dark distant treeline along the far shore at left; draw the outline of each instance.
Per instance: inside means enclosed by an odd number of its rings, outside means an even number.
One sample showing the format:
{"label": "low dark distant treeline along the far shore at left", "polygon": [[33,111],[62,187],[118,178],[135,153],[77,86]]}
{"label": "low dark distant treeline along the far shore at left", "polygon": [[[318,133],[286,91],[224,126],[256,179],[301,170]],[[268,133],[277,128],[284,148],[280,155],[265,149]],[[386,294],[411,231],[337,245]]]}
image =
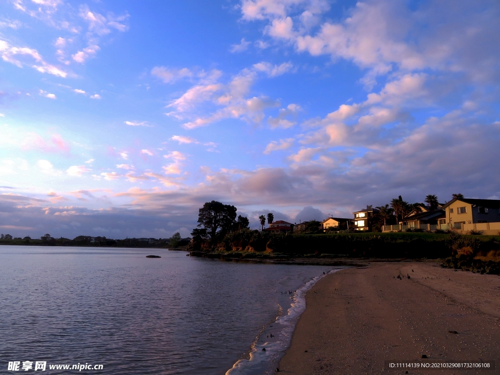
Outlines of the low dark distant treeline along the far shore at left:
{"label": "low dark distant treeline along the far shore at left", "polygon": [[125,238],[111,239],[106,237],[93,237],[79,235],[73,239],[54,238],[45,234],[40,238],[12,237],[9,234],[1,234],[0,244],[4,245],[38,245],[38,246],[95,246],[95,247],[182,247],[189,243],[191,238],[180,238],[175,233],[171,238]]}

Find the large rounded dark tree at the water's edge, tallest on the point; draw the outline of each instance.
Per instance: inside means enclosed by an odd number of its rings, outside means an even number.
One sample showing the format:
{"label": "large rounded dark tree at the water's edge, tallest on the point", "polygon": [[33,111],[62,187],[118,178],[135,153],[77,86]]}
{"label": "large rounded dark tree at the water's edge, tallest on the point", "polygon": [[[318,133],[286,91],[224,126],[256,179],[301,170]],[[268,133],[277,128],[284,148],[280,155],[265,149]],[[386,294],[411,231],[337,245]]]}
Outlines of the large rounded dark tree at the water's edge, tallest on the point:
{"label": "large rounded dark tree at the water's edge, tallest on the point", "polygon": [[203,226],[210,239],[214,240],[231,230],[235,218],[236,207],[212,200],[199,209],[197,226]]}

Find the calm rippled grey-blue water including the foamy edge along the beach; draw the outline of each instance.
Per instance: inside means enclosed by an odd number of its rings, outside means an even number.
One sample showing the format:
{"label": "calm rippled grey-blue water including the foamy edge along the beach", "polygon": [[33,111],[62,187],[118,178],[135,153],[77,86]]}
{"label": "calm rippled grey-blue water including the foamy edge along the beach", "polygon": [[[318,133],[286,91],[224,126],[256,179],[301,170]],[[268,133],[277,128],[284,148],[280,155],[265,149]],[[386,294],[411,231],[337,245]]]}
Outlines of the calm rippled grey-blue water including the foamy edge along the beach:
{"label": "calm rippled grey-blue water including the foamy edge along the beach", "polygon": [[64,373],[270,373],[305,290],[333,268],[0,246],[0,372],[29,360],[46,361],[48,373],[61,373],[49,364],[77,363],[103,369]]}

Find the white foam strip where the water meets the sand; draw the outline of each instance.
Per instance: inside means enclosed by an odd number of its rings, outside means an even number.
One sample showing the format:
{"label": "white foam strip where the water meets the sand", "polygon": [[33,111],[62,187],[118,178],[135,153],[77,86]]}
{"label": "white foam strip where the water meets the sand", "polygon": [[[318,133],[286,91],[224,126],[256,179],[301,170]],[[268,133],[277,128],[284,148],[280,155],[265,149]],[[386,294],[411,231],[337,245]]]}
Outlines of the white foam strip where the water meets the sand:
{"label": "white foam strip where the water meets the sand", "polygon": [[[326,274],[340,270],[333,269]],[[278,316],[272,324],[279,324],[277,339],[272,342],[258,343],[259,336],[251,344],[249,359],[240,359],[226,371],[225,375],[261,375],[274,372],[279,359],[290,345],[293,329],[298,318],[305,311],[305,293],[326,274],[321,274],[307,281],[293,293],[293,302],[286,315]],[[267,326],[268,327],[268,326]],[[262,329],[261,333],[265,330]],[[260,333],[259,333],[260,335]],[[264,349],[265,350],[262,350]]]}

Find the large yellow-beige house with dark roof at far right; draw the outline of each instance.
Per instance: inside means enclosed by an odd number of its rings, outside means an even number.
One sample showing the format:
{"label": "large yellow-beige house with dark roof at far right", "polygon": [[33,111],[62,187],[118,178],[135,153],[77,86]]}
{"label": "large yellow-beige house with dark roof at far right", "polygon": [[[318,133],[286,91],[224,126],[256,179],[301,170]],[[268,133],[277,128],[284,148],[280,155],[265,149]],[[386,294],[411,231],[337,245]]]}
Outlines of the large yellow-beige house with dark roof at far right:
{"label": "large yellow-beige house with dark roof at far right", "polygon": [[445,217],[439,220],[441,229],[482,230],[484,234],[497,234],[500,230],[499,199],[454,198],[442,209]]}

